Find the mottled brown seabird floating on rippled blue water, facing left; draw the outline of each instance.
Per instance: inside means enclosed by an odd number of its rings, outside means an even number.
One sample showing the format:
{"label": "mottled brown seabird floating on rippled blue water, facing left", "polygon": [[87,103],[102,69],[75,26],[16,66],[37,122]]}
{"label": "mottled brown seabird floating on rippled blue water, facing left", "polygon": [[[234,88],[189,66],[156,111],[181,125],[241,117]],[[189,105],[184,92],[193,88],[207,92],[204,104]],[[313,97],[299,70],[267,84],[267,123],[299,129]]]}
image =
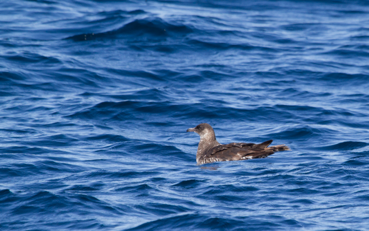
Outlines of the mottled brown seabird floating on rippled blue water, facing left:
{"label": "mottled brown seabird floating on rippled blue water, facing left", "polygon": [[219,144],[215,138],[213,128],[202,123],[194,128],[187,129],[200,135],[200,142],[196,153],[197,164],[207,164],[216,161],[250,160],[265,158],[276,151],[291,150],[284,144],[268,147],[273,140],[261,144],[253,143],[230,143]]}

